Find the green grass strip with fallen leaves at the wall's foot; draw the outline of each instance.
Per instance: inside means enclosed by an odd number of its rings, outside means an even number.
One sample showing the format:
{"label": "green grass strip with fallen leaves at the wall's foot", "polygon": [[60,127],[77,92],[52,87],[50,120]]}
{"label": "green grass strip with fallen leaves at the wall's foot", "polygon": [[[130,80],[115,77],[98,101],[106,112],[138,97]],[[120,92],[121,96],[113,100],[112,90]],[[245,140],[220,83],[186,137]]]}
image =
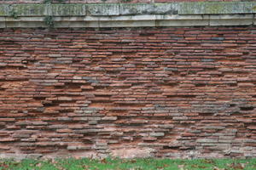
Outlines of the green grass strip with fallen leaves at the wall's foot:
{"label": "green grass strip with fallen leaves at the wall's foot", "polygon": [[0,160],[0,170],[256,170],[253,159],[55,159]]}

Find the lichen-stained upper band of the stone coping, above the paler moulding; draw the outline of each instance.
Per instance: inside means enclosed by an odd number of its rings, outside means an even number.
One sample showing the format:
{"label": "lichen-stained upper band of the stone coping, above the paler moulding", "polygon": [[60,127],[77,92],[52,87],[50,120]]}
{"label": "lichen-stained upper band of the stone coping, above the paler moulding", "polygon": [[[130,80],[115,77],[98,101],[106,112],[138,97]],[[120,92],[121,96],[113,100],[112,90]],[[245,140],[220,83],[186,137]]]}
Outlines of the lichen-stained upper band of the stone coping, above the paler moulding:
{"label": "lichen-stained upper band of the stone coping, above the paler moulding", "polygon": [[0,4],[0,16],[254,14],[256,2]]}

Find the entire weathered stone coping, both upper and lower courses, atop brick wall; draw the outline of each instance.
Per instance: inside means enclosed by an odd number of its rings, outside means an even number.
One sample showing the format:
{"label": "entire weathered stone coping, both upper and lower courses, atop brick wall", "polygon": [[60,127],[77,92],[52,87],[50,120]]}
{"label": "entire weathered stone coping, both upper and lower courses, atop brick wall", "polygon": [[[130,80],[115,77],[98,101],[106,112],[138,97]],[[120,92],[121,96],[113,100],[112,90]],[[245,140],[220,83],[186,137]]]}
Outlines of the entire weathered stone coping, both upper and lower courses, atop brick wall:
{"label": "entire weathered stone coping, both upper and lower courses, atop brick wall", "polygon": [[0,27],[247,26],[256,2],[0,4]]}

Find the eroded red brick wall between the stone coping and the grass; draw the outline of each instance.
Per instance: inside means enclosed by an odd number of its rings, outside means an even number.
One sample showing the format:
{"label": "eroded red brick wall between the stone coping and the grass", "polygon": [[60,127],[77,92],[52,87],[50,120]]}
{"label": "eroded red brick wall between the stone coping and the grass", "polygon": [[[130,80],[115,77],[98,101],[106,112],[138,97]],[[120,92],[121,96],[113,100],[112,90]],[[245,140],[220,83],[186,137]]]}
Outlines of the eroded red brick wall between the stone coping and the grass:
{"label": "eroded red brick wall between the stone coping and the grass", "polygon": [[0,153],[256,156],[256,27],[0,30]]}

